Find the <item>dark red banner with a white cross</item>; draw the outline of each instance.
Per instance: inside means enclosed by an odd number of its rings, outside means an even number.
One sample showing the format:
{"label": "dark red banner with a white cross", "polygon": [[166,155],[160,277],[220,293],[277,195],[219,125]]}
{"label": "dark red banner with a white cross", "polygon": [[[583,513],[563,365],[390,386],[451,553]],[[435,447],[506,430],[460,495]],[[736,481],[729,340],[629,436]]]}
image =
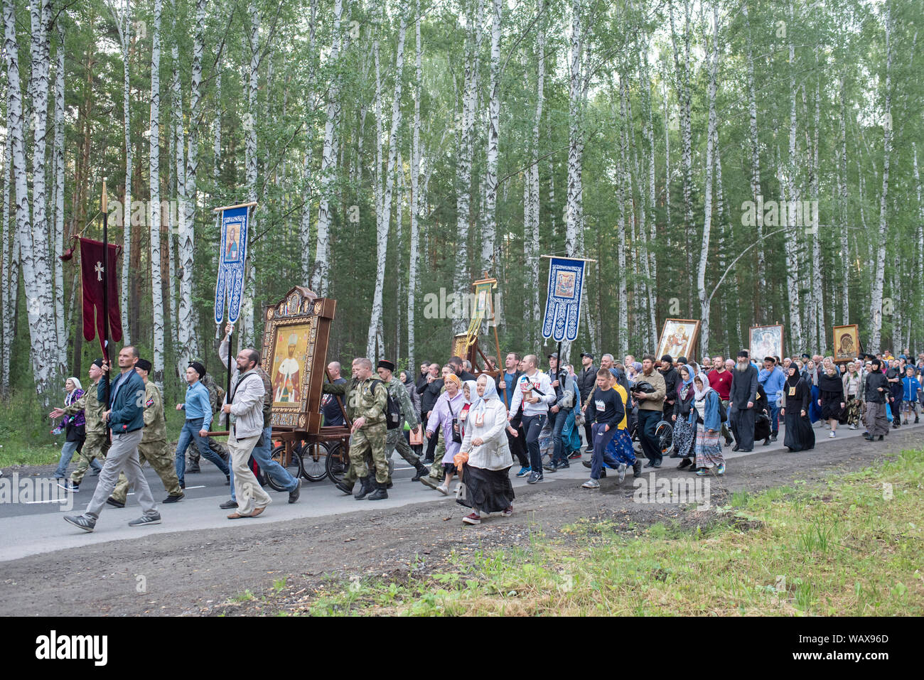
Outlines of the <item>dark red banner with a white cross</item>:
{"label": "dark red banner with a white cross", "polygon": [[[109,293],[109,337],[114,342],[122,339],[122,318],[119,313],[118,297],[118,269],[116,258],[118,247],[110,243],[107,258],[103,264],[103,242],[91,238],[80,239],[80,282],[83,285],[83,337],[92,340],[99,335],[100,347],[103,355],[108,357],[103,347],[103,278]],[[103,270],[105,267],[105,270]],[[105,277],[103,277],[105,272]],[[93,320],[96,320],[96,329],[93,329]]]}

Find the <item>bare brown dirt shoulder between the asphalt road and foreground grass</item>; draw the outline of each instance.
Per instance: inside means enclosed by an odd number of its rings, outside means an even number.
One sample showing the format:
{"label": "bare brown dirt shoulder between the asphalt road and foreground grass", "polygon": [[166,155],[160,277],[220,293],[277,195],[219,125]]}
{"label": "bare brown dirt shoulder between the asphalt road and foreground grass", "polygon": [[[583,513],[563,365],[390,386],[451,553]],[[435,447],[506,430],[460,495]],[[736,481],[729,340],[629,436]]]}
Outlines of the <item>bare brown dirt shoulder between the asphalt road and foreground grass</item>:
{"label": "bare brown dirt shoulder between the asphalt road and foreground grass", "polygon": [[[920,439],[915,431],[897,431],[882,443],[852,438],[807,453],[736,458],[723,478],[711,479],[713,507],[734,492],[795,480],[810,483],[863,468],[883,456],[920,447]],[[676,471],[668,459],[664,464],[659,478],[690,476]],[[286,609],[287,601],[304,600],[346,579],[383,577],[402,584],[412,575],[439,572],[452,551],[464,555],[511,546],[528,549],[540,535],[569,540],[561,529],[577,522],[592,526],[607,520],[615,530],[637,533],[657,522],[706,528],[714,521],[711,511],[698,511],[695,505],[639,504],[633,494],[631,476],[622,486],[614,478],[601,480],[600,492],[580,489],[574,480],[546,481],[517,491],[514,516],[492,516],[479,527],[461,523],[470,512],[461,505],[414,504],[387,512],[372,508],[235,528],[220,535],[178,532],[45,553],[4,565],[0,613],[275,613]],[[262,600],[265,595],[271,603]]]}

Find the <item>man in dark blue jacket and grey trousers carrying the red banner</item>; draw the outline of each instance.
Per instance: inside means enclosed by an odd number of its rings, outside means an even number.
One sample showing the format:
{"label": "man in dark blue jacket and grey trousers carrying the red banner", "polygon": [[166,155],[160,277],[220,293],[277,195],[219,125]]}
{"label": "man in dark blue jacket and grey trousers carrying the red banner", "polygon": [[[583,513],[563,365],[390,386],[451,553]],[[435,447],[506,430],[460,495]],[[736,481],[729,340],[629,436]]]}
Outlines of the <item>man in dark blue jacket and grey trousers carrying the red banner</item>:
{"label": "man in dark blue jacket and grey trousers carrying the red banner", "polygon": [[[112,431],[112,446],[106,454],[100,480],[93,492],[93,498],[83,515],[65,516],[65,521],[88,533],[96,528],[96,520],[109,496],[116,489],[119,472],[124,471],[128,483],[134,488],[144,515],[128,522],[129,527],[160,524],[161,514],[157,512],[148,480],[144,478],[138,457],[138,444],[144,430],[144,381],[135,372],[138,349],[128,345],[118,353],[119,375],[109,385],[106,398],[105,380],[97,388],[99,399],[107,405],[103,411],[103,422]],[[103,372],[109,372],[109,364],[103,361]]]}

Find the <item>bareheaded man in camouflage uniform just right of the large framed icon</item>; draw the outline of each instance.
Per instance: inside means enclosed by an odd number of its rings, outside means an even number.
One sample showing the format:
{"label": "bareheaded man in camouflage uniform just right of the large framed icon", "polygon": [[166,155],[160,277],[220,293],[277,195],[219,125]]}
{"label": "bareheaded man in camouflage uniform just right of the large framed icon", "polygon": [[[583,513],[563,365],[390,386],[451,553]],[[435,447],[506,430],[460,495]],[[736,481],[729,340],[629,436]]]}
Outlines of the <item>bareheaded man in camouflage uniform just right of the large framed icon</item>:
{"label": "bareheaded man in camouflage uniform just right of the large framed icon", "polygon": [[[346,415],[353,423],[350,431],[349,469],[344,479],[336,483],[337,489],[352,493],[356,480],[362,488],[356,499],[367,495],[370,501],[388,498],[388,459],[385,457],[385,404],[388,390],[380,381],[372,380],[372,362],[368,358],[353,359],[353,380],[346,384],[324,383],[324,393],[342,395],[346,402]],[[375,466],[375,478],[369,471],[367,455]],[[373,483],[374,489],[373,492]],[[371,492],[371,493],[370,493]]]}

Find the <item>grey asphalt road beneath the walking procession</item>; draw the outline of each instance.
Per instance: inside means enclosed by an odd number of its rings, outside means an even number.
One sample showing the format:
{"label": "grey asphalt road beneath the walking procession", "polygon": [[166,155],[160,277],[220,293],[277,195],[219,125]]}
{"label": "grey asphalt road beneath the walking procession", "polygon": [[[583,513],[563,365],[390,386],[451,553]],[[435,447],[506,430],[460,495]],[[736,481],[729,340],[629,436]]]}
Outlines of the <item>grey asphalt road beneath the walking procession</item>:
{"label": "grey asphalt road beneath the walking procession", "polygon": [[[921,425],[903,426],[899,432],[914,431],[915,433],[924,433]],[[850,431],[841,428],[837,431],[835,439],[828,438],[828,430],[823,426],[815,429],[817,448],[837,446],[838,443],[845,440],[854,440],[859,437],[861,431]],[[887,438],[888,439],[888,438]],[[869,444],[870,448],[877,446],[877,443]],[[732,453],[730,449],[724,449],[725,457],[729,461],[726,477],[735,475],[735,460],[747,455],[757,455],[779,451],[783,449],[783,432],[779,440],[771,443],[769,446],[762,446],[760,443],[751,453]],[[585,458],[589,458],[585,455]],[[274,492],[269,487],[265,490],[273,498],[266,512],[255,519],[238,519],[228,520],[227,514],[232,511],[222,510],[219,504],[230,498],[229,487],[225,485],[225,476],[215,468],[211,463],[202,461],[202,472],[199,474],[187,475],[186,498],[176,504],[159,504],[159,510],[163,516],[163,523],[144,528],[128,527],[128,521],[140,516],[140,507],[134,494],[129,493],[128,503],[125,508],[115,508],[106,505],[97,522],[96,529],[88,534],[75,528],[64,521],[65,514],[79,514],[83,512],[87,504],[90,503],[92,493],[96,488],[98,478],[87,476],[80,485],[80,491],[76,494],[63,494],[62,500],[52,502],[35,502],[27,500],[23,494],[13,494],[13,501],[2,499],[0,502],[0,562],[17,560],[19,558],[36,555],[41,553],[50,553],[53,551],[66,550],[70,548],[79,548],[97,543],[103,543],[114,540],[145,540],[153,534],[172,533],[176,531],[195,531],[199,529],[210,529],[215,531],[225,531],[231,528],[243,528],[247,526],[260,525],[265,526],[274,522],[282,522],[292,519],[309,518],[309,517],[326,517],[342,513],[354,512],[360,509],[375,507],[378,512],[399,508],[410,504],[419,503],[444,503],[455,506],[453,495],[448,497],[438,492],[434,492],[419,482],[412,482],[414,470],[397,455],[394,456],[395,473],[393,479],[395,486],[389,490],[389,497],[384,501],[368,502],[356,501],[352,496],[346,496],[334,488],[330,480],[320,482],[311,482],[303,480],[301,498],[296,504],[288,504],[288,494],[286,492]],[[665,458],[663,469],[675,468],[675,459]],[[589,471],[580,465],[580,461],[571,461],[570,468],[559,470],[551,474],[546,472],[546,480],[575,480],[576,492],[580,492],[577,487],[580,482],[589,477]],[[518,467],[515,465],[514,470]],[[35,484],[36,480],[45,480],[44,483],[53,485],[49,481],[55,470],[54,465],[42,466],[37,468],[6,468],[5,477],[0,479],[0,483],[5,483],[6,479],[18,479],[20,486],[27,480],[27,484]],[[645,472],[650,472],[650,468]],[[13,475],[17,478],[13,478]],[[612,474],[612,473],[611,473]],[[164,499],[165,492],[161,480],[150,468],[145,468],[145,475],[154,494],[154,499],[158,502]],[[631,483],[631,473],[626,482]],[[516,487],[525,486],[525,479],[513,478],[513,484]],[[456,482],[453,482],[453,487]],[[629,488],[631,488],[629,486]],[[47,501],[49,499],[40,499]]]}

